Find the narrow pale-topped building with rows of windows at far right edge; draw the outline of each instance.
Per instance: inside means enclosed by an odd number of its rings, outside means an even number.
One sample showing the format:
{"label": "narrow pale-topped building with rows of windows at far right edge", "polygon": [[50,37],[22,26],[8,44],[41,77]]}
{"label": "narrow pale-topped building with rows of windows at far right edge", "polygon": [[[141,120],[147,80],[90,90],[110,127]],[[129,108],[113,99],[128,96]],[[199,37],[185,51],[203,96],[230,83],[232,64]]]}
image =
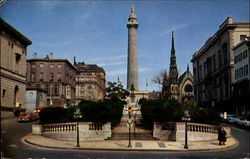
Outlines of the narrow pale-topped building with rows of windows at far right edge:
{"label": "narrow pale-topped building with rows of windows at far right edge", "polygon": [[234,75],[233,102],[237,116],[250,115],[250,38],[241,40],[233,48]]}

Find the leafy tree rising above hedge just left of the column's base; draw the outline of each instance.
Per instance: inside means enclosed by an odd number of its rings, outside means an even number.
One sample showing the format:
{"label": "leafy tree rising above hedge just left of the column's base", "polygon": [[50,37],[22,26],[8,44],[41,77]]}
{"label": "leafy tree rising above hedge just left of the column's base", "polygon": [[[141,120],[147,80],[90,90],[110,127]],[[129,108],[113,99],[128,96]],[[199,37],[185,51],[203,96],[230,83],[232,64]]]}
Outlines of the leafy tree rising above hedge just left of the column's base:
{"label": "leafy tree rising above hedge just left of the column's base", "polygon": [[123,88],[123,85],[116,82],[108,82],[106,93],[111,98],[126,99],[129,96],[129,92]]}

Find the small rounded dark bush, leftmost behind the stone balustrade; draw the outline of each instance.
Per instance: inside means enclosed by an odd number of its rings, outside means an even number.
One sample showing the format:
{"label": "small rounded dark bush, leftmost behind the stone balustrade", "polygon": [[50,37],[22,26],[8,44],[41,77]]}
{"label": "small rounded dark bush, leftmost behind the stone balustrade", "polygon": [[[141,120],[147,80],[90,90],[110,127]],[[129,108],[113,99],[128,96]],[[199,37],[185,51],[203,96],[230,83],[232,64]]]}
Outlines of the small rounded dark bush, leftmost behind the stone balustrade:
{"label": "small rounded dark bush, leftmost behind the stone balustrade", "polygon": [[62,123],[69,121],[68,110],[62,107],[44,108],[39,113],[40,124]]}

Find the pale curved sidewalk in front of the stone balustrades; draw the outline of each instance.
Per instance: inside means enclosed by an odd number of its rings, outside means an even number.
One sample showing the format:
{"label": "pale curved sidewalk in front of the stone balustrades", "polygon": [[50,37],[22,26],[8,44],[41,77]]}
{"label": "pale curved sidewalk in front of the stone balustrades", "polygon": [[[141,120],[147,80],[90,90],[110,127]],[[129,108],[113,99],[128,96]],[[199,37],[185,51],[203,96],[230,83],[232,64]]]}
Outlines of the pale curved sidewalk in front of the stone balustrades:
{"label": "pale curved sidewalk in front of the stone balustrades", "polygon": [[128,148],[127,140],[105,140],[80,142],[76,148],[76,142],[55,140],[40,135],[28,134],[23,138],[24,143],[46,148],[59,149],[83,149],[83,150],[134,150],[134,151],[222,151],[234,148],[238,145],[237,140],[228,138],[226,145],[219,145],[217,140],[188,142],[188,149],[184,149],[184,142],[161,141],[161,140],[132,140],[132,148]]}

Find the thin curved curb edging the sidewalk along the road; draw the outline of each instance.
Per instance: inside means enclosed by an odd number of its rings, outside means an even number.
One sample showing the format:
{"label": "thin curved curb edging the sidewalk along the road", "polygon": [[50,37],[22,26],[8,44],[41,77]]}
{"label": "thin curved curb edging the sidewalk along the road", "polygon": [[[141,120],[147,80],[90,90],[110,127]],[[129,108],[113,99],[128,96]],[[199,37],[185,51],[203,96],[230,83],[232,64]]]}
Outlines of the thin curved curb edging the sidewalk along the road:
{"label": "thin curved curb edging the sidewalk along the road", "polygon": [[[233,137],[232,137],[233,138]],[[38,147],[43,147],[43,148],[50,148],[50,149],[63,149],[63,150],[92,150],[92,151],[130,151],[130,152],[136,152],[136,151],[147,151],[147,152],[204,152],[204,151],[209,151],[209,152],[218,152],[218,151],[228,151],[231,149],[236,148],[239,145],[239,142],[237,139],[233,138],[236,142],[235,144],[225,147],[225,148],[220,148],[220,149],[183,149],[183,150],[171,150],[171,149],[119,149],[119,148],[84,148],[84,147],[71,147],[71,148],[66,148],[66,147],[57,147],[57,146],[45,146],[45,145],[39,145],[33,142],[30,142],[26,139],[26,136],[24,136],[21,139],[21,142],[24,144],[30,144],[30,145],[34,145],[34,146],[38,146]]]}

